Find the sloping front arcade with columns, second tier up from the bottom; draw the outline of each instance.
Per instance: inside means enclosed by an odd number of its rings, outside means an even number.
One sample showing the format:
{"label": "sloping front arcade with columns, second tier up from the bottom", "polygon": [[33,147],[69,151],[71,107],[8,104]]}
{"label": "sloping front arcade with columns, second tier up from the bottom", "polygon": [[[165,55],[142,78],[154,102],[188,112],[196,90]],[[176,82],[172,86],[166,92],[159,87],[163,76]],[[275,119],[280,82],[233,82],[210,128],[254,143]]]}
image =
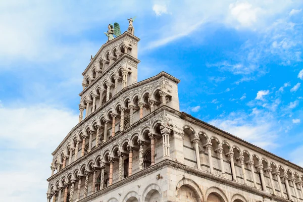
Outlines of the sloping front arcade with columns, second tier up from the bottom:
{"label": "sloping front arcade with columns, second tier up from the bottom", "polygon": [[128,128],[131,124],[158,109],[169,104],[171,96],[161,91],[160,86],[142,93],[126,95],[122,102],[113,105],[114,108],[101,112],[102,116],[75,132],[71,140],[63,146],[57,158],[52,162],[52,175],[59,172],[78,158],[85,156],[100,144]]}

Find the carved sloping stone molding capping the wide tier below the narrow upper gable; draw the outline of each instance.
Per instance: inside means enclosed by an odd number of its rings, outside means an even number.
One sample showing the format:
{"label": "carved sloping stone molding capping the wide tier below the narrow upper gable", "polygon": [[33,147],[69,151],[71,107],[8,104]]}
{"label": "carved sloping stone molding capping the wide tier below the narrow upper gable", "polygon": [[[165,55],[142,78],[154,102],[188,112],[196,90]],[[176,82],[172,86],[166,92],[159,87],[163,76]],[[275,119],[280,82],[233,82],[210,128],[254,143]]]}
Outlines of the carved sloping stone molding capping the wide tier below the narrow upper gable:
{"label": "carved sloping stone molding capping the wide tier below the narrow upper gable", "polygon": [[132,85],[129,85],[129,86],[123,88],[116,95],[114,95],[111,99],[109,99],[105,104],[103,104],[102,106],[97,108],[94,112],[92,112],[90,115],[88,115],[87,118],[85,118],[80,123],[78,123],[74,128],[72,128],[71,131],[68,133],[68,135],[63,139],[63,141],[59,144],[59,146],[52,153],[52,155],[55,156],[58,153],[58,151],[61,149],[61,147],[68,141],[68,139],[74,132],[77,132],[77,130],[81,129],[81,127],[84,127],[87,123],[89,124],[89,122],[95,121],[95,120],[92,120],[92,118],[95,117],[96,115],[98,115],[100,113],[100,111],[105,111],[105,108],[110,108],[111,105],[115,105],[116,103],[114,103],[114,100],[123,99],[123,95],[125,95],[125,96],[127,94],[129,95],[129,92],[131,90],[135,90],[135,88],[143,87],[144,85],[150,84],[150,86],[153,86],[153,85],[155,85],[154,83],[157,81],[159,82],[159,85],[161,85],[161,83],[164,82],[164,79],[161,79],[163,77],[168,78],[176,83],[178,83],[180,81],[180,80],[176,79],[175,77],[170,76],[166,72],[161,72],[154,77],[145,79],[143,81],[140,81],[138,83],[135,83],[135,84],[132,84]]}

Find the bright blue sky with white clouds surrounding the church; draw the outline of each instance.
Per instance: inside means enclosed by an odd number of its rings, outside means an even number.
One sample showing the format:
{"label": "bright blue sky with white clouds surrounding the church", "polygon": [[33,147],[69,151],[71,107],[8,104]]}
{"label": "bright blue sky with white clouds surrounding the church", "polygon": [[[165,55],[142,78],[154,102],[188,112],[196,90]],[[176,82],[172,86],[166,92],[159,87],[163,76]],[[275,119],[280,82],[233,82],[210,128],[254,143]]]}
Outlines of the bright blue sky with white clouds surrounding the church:
{"label": "bright blue sky with white clouds surrounding the church", "polygon": [[0,2],[0,193],[46,200],[109,23],[137,16],[138,80],[177,77],[180,110],[303,166],[301,1]]}

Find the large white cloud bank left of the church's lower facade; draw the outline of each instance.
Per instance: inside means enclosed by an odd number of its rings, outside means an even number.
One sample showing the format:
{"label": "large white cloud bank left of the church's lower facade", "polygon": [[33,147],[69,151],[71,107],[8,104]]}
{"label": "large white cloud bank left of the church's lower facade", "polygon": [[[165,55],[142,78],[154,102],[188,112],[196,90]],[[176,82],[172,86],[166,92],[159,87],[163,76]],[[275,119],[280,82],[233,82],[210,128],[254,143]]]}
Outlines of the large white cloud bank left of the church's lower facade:
{"label": "large white cloud bank left of the church's lower facade", "polygon": [[[68,110],[46,106],[0,108],[0,194],[4,201],[43,201],[51,153],[77,124]],[[52,127],[55,126],[55,127]],[[18,186],[16,186],[18,185]],[[36,187],[33,189],[32,187]]]}

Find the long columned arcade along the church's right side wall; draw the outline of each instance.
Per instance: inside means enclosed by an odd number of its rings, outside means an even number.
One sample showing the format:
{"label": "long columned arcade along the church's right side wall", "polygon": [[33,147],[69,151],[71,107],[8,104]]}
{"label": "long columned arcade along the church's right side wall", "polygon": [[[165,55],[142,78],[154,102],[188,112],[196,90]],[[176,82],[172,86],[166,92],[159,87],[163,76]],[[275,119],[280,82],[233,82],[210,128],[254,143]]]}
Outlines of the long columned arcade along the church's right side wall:
{"label": "long columned arcade along the church's right side wall", "polygon": [[231,145],[227,140],[220,141],[219,136],[209,137],[203,131],[196,133],[191,126],[184,126],[183,131],[185,141],[195,150],[196,168],[289,200],[303,196],[301,173]]}

